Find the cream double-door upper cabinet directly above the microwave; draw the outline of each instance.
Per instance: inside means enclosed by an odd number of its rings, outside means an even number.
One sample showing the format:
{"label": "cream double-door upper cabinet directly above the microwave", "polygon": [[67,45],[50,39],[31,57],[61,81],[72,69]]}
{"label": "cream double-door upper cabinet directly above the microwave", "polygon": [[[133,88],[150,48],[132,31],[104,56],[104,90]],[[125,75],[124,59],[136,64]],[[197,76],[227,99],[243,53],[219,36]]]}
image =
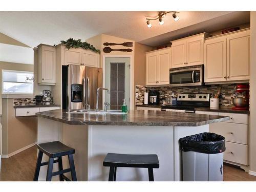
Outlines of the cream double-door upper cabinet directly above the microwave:
{"label": "cream double-door upper cabinet directly above the microwave", "polygon": [[172,41],[172,68],[201,65],[204,63],[204,38],[201,33]]}

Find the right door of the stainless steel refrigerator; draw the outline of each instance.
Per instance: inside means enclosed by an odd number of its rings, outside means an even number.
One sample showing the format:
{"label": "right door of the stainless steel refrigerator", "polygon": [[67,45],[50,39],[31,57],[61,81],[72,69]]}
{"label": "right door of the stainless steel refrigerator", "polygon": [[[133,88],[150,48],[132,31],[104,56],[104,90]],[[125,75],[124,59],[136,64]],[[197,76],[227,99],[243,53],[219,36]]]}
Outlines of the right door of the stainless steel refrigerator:
{"label": "right door of the stainless steel refrigerator", "polygon": [[[94,67],[86,67],[86,76],[84,76],[87,81],[86,97],[87,103],[90,104],[91,109],[96,108],[96,95],[97,89],[102,88],[102,69]],[[102,90],[99,91],[99,110],[102,110]]]}

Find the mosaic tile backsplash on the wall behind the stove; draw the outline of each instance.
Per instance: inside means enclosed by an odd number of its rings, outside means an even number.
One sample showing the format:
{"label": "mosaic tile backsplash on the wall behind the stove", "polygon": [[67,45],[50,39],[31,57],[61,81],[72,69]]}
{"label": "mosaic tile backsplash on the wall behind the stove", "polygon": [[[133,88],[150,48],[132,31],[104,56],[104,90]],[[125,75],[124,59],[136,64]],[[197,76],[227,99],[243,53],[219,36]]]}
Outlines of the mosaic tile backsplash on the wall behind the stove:
{"label": "mosaic tile backsplash on the wall behind the stove", "polygon": [[160,103],[163,102],[165,97],[169,97],[172,93],[177,96],[181,93],[210,93],[211,95],[217,94],[218,90],[221,87],[221,97],[220,104],[230,105],[232,104],[232,95],[236,91],[237,84],[218,84],[218,85],[207,85],[207,86],[198,86],[198,87],[145,87],[136,85],[136,104],[144,103],[144,92],[151,90],[159,91]]}

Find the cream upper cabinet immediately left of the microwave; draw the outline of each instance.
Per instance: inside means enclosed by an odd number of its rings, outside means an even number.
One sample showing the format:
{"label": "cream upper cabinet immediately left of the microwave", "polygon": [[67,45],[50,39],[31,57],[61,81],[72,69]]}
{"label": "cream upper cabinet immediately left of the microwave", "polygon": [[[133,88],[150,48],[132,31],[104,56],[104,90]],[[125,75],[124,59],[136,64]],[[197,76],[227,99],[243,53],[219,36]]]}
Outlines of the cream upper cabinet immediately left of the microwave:
{"label": "cream upper cabinet immediately left of the microwave", "polygon": [[146,54],[146,86],[169,84],[170,48]]}

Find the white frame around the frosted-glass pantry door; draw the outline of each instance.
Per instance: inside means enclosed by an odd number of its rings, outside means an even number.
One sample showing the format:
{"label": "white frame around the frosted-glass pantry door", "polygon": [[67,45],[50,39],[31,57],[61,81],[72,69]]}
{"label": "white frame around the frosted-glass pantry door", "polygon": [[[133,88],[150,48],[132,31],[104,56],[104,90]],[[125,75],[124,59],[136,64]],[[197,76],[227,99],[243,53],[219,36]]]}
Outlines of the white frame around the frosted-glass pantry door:
{"label": "white frame around the frosted-glass pantry door", "polygon": [[[105,59],[106,58],[130,58],[130,110],[134,110],[134,63],[132,55],[103,55],[102,71],[103,71],[103,86],[105,86]],[[105,100],[105,92],[102,94],[103,101]]]}

